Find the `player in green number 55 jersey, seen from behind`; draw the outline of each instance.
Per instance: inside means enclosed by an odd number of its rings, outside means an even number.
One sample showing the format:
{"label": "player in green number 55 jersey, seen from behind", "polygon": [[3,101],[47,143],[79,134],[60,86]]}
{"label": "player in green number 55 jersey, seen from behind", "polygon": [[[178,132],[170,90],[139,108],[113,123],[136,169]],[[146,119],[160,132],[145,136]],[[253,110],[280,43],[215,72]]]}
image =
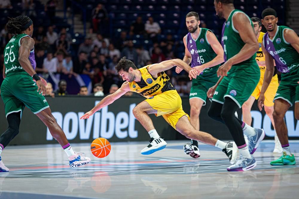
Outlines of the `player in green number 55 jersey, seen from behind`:
{"label": "player in green number 55 jersey, seen from behind", "polygon": [[[8,129],[0,136],[0,172],[8,172],[1,160],[4,147],[19,133],[22,112],[28,107],[48,127],[51,135],[59,142],[68,155],[70,167],[90,162],[81,153],[75,153],[57,124],[47,100],[47,82],[35,72],[33,22],[28,16],[9,18],[8,33],[15,34],[4,49],[3,82],[1,98],[4,102]],[[34,79],[34,81],[33,81]],[[34,131],[34,126],[32,131]],[[26,154],[24,154],[26,155]]]}

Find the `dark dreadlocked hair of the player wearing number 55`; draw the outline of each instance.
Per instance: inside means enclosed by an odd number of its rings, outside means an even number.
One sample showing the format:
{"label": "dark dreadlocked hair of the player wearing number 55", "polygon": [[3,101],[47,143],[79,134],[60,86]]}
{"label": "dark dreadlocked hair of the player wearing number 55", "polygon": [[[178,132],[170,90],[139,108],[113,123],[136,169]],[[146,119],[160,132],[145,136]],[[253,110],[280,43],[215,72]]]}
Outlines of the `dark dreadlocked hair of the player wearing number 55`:
{"label": "dark dreadlocked hair of the player wearing number 55", "polygon": [[28,24],[31,20],[28,16],[20,15],[15,18],[8,17],[9,21],[6,24],[6,31],[11,34],[20,34],[22,27]]}

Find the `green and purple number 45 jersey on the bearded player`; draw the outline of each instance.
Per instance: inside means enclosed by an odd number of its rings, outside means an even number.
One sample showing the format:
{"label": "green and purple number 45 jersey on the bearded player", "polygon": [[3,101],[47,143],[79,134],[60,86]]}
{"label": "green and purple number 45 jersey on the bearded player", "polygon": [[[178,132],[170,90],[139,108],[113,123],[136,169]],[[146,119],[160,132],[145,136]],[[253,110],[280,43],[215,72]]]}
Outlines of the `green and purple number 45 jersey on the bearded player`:
{"label": "green and purple number 45 jersey on the bearded player", "polygon": [[[207,33],[211,30],[206,28],[200,28],[200,32],[197,38],[192,38],[191,33],[188,33],[186,35],[186,45],[187,49],[191,54],[192,61],[191,61],[191,67],[196,67],[205,63],[208,63],[212,59],[214,59],[217,54],[214,52],[213,48],[211,47],[208,39],[207,39]],[[218,70],[218,67],[220,66],[214,66],[205,69],[201,75],[202,76],[209,76],[209,73],[216,73]]]}

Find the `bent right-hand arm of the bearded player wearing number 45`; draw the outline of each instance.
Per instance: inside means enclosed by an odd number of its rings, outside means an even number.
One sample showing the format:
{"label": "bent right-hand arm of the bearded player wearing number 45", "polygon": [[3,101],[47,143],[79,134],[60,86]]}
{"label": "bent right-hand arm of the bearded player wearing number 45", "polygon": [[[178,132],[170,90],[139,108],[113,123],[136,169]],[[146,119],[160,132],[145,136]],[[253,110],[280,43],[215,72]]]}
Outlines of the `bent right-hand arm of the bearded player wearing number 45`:
{"label": "bent right-hand arm of the bearded player wearing number 45", "polygon": [[219,43],[218,39],[216,38],[216,36],[214,35],[214,33],[208,31],[207,32],[207,39],[208,42],[210,43],[213,51],[217,54],[215,58],[213,58],[211,61],[204,63],[200,66],[196,66],[193,69],[195,69],[198,72],[198,75],[205,70],[206,68],[210,68],[213,66],[216,66],[218,64],[221,64],[222,62],[224,62],[224,51],[223,48],[221,46],[221,44]]}

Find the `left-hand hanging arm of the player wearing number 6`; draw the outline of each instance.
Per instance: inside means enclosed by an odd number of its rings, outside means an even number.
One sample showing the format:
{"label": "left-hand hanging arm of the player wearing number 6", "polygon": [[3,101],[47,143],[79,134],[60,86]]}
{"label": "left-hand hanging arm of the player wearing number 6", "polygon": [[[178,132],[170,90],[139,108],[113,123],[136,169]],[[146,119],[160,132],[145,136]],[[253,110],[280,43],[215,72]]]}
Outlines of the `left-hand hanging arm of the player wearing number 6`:
{"label": "left-hand hanging arm of the player wearing number 6", "polygon": [[274,59],[271,57],[271,55],[268,53],[268,51],[265,49],[264,44],[262,43],[262,50],[265,55],[265,64],[266,64],[266,71],[264,75],[264,81],[260,92],[260,97],[257,102],[257,106],[259,107],[260,111],[262,110],[264,106],[265,101],[265,92],[267,88],[269,87],[269,84],[271,82],[271,79],[274,74]]}

